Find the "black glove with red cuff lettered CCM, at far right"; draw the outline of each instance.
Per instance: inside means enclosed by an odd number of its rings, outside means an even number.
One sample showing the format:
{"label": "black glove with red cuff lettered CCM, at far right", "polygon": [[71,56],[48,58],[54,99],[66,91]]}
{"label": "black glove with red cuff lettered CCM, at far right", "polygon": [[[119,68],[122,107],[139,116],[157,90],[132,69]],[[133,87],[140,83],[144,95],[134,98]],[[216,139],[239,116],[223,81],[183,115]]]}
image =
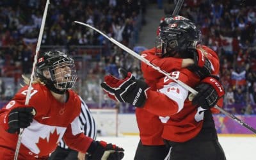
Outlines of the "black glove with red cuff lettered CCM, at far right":
{"label": "black glove with red cuff lettered CCM, at far right", "polygon": [[198,92],[192,100],[193,105],[201,106],[204,109],[214,107],[218,100],[225,95],[225,90],[216,76],[206,77],[195,90]]}

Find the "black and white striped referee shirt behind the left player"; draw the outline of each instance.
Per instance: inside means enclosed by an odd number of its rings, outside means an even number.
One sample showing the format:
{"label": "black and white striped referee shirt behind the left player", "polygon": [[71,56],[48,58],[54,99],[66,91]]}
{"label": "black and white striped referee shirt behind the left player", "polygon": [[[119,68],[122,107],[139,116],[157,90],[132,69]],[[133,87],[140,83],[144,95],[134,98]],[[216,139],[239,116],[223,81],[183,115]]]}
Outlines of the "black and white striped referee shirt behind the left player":
{"label": "black and white striped referee shirt behind the left player", "polygon": [[[97,136],[97,126],[95,124],[95,120],[93,119],[92,113],[85,104],[84,100],[81,97],[79,98],[81,99],[81,113],[79,115],[80,128],[84,131],[86,136],[95,140]],[[68,148],[62,139],[59,146],[61,148]]]}

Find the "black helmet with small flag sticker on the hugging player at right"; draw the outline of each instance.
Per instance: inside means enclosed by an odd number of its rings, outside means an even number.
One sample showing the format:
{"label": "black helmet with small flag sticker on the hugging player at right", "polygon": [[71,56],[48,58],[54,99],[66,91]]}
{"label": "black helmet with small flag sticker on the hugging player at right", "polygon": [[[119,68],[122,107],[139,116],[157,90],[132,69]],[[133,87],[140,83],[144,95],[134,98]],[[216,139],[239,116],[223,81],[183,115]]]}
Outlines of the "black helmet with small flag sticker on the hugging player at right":
{"label": "black helmet with small flag sticker on the hugging player at right", "polygon": [[195,24],[182,16],[164,18],[156,38],[156,54],[173,56],[177,52],[194,48],[201,42],[201,31]]}

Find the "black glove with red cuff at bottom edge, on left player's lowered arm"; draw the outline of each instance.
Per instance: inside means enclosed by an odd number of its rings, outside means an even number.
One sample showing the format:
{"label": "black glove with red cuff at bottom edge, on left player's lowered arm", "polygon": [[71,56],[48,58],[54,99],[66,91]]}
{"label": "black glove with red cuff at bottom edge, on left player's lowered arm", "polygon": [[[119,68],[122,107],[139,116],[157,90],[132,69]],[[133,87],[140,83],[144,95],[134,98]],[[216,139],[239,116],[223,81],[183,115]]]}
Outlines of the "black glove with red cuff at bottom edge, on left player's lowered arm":
{"label": "black glove with red cuff at bottom edge, on left player's lowered arm", "polygon": [[87,150],[92,160],[120,160],[124,157],[124,149],[105,141],[93,141]]}

